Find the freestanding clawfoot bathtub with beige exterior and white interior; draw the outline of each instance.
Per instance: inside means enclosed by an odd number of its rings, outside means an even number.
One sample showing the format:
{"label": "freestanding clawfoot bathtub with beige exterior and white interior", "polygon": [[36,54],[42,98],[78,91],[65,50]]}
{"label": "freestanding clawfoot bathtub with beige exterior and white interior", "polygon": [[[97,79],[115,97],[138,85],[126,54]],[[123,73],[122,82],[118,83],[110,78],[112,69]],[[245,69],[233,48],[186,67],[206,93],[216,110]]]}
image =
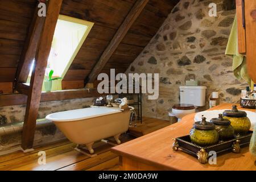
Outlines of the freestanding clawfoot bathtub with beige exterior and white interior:
{"label": "freestanding clawfoot bathtub with beige exterior and white interior", "polygon": [[120,144],[119,135],[129,128],[131,110],[89,107],[47,115],[64,135],[76,144],[85,144],[90,154],[94,153],[93,143],[114,137]]}

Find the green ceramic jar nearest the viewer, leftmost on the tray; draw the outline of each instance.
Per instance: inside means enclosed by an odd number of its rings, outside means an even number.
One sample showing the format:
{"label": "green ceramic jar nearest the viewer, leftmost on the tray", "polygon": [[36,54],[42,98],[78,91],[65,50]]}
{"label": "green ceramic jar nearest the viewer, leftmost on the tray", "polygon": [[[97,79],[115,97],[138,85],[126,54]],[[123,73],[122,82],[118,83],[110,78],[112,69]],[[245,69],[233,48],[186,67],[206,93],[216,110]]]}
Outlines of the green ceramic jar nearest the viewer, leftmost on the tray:
{"label": "green ceramic jar nearest the viewer, leftmost on the tray", "polygon": [[191,141],[199,146],[209,146],[218,142],[218,132],[214,124],[207,122],[205,117],[202,121],[194,123],[189,136]]}

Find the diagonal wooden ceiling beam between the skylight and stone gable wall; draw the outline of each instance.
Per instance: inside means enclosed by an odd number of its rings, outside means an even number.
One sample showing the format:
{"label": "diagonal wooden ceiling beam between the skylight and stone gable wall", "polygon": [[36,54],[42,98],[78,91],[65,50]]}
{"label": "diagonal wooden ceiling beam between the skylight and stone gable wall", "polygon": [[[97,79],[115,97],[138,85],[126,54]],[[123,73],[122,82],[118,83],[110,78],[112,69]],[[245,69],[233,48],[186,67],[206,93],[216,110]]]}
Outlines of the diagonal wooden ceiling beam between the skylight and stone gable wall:
{"label": "diagonal wooden ceiling beam between the skylight and stone gable wall", "polygon": [[105,49],[100,59],[94,65],[89,76],[85,78],[85,84],[92,83],[94,80],[96,80],[98,74],[102,71],[110,57],[113,55],[114,51],[122,42],[123,38],[129,31],[132,24],[135,22],[139,14],[141,14],[142,10],[147,5],[147,2],[148,0],[137,0],[137,2],[134,4],[129,14],[126,16],[125,20],[121,24],[121,26],[118,28],[108,47]]}

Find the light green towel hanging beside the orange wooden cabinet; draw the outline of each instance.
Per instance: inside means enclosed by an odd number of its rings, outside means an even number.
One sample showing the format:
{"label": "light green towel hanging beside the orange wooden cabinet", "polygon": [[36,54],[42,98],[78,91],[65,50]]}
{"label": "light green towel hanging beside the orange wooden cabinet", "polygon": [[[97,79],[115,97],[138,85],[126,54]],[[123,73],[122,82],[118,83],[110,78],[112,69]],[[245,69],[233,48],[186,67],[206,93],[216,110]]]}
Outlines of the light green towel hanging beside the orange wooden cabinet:
{"label": "light green towel hanging beside the orange wooden cabinet", "polygon": [[247,73],[246,56],[238,52],[237,40],[237,16],[234,18],[232,30],[230,32],[228,45],[226,46],[225,55],[233,56],[233,72],[238,80],[245,80],[251,85],[251,78]]}

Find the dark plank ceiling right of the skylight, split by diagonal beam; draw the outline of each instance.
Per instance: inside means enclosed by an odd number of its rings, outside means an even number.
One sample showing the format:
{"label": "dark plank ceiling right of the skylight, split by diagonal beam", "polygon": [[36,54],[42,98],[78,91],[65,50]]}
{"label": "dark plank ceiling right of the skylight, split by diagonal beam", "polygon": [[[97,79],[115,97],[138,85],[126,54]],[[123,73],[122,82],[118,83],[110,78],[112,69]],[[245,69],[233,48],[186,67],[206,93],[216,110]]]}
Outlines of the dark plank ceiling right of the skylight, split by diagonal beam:
{"label": "dark plank ceiling right of the skylight, split by diagonal beam", "polygon": [[[88,76],[135,2],[64,0],[61,14],[95,23],[64,80],[84,80]],[[110,68],[115,68],[116,72],[125,72],[156,34],[176,3],[172,0],[150,0],[102,72],[109,73]]]}

